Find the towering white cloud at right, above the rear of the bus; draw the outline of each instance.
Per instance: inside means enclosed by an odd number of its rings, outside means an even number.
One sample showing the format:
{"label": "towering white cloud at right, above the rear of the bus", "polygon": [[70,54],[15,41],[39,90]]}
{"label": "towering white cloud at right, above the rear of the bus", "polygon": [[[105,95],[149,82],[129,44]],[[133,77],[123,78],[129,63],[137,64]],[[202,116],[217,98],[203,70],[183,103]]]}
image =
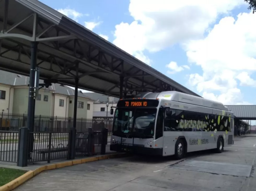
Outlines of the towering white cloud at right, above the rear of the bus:
{"label": "towering white cloud at right, above the rear of the bus", "polygon": [[251,13],[239,14],[237,21],[225,17],[205,39],[184,43],[189,61],[202,67],[203,74],[191,74],[189,82],[203,92],[203,97],[224,104],[248,104],[237,80],[240,85],[256,86],[248,73],[256,71],[256,26],[251,25],[255,20],[256,15]]}

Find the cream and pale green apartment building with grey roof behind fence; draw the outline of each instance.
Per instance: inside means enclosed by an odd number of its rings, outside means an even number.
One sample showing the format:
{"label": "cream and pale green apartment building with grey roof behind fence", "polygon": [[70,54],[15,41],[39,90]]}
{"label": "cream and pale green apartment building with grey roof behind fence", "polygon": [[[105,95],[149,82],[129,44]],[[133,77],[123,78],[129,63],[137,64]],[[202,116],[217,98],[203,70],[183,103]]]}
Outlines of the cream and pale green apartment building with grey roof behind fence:
{"label": "cream and pale green apartment building with grey roof behind fence", "polygon": [[[27,113],[29,77],[0,71],[0,112]],[[43,83],[40,80],[39,83]],[[78,92],[77,118],[92,119],[94,100]],[[73,117],[74,90],[68,86],[52,84],[41,88],[36,98],[35,114]]]}

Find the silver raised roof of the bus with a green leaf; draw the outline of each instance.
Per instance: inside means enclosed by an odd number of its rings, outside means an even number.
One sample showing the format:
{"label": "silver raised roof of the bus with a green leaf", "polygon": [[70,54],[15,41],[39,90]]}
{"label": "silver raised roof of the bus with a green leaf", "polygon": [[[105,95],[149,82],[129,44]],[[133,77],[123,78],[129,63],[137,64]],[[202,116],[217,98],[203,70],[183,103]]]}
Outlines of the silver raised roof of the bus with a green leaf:
{"label": "silver raised roof of the bus with a green leaf", "polygon": [[146,99],[164,99],[170,101],[178,101],[182,103],[188,103],[193,105],[199,105],[204,107],[211,107],[214,109],[229,111],[228,107],[224,106],[222,103],[218,101],[212,101],[209,99],[204,99],[197,96],[192,96],[189,94],[177,92],[177,91],[165,91],[160,93],[153,93],[153,92],[143,92],[137,94],[136,98],[146,98]]}

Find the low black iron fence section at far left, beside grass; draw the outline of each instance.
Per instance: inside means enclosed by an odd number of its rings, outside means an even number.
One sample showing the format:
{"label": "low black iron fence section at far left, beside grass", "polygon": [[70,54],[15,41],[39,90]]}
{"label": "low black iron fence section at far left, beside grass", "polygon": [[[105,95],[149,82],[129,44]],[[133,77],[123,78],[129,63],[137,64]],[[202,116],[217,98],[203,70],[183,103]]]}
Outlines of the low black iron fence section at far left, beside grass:
{"label": "low black iron fence section at far left, beside grass", "polygon": [[19,133],[0,131],[0,161],[17,162]]}

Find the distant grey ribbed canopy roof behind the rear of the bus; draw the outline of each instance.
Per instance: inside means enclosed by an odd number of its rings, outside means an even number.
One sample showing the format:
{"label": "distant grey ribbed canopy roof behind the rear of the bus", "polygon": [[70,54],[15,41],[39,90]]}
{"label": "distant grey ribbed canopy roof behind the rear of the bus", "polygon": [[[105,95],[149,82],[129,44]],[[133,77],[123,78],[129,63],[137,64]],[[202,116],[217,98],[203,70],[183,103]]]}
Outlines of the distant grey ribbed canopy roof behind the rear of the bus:
{"label": "distant grey ribbed canopy roof behind the rear of the bus", "polygon": [[256,120],[256,105],[226,105],[238,119]]}

